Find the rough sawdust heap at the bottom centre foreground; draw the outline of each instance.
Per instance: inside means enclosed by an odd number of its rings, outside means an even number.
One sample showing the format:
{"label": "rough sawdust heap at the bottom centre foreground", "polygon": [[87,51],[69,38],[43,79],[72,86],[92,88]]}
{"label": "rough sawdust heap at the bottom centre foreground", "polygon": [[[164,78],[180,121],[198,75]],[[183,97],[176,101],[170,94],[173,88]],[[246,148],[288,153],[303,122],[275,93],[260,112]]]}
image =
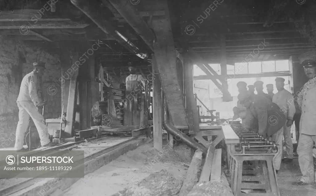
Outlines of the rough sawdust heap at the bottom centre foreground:
{"label": "rough sawdust heap at the bottom centre foreground", "polygon": [[177,195],[183,181],[162,169],[150,174],[135,186],[130,186],[112,196],[162,196]]}

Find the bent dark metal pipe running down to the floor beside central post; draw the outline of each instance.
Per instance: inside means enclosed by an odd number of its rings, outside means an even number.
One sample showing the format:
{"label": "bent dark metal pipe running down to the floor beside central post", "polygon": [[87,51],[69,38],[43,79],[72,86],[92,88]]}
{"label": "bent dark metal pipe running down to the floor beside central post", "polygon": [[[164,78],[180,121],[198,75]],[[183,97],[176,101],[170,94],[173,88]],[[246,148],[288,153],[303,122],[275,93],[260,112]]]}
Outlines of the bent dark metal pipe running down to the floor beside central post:
{"label": "bent dark metal pipe running down to the floor beside central post", "polygon": [[200,149],[203,151],[204,154],[206,154],[207,149],[197,143],[196,141],[192,140],[190,137],[188,137],[186,134],[183,134],[181,131],[179,131],[177,128],[175,128],[170,120],[170,115],[169,115],[169,111],[168,111],[168,106],[167,106],[167,100],[165,99],[165,96],[163,96],[163,122],[162,122],[162,127],[171,135],[173,135],[175,137],[176,140],[178,140],[177,138],[179,138],[183,143],[185,143],[186,145],[188,145],[189,147],[191,147],[193,150],[197,150]]}

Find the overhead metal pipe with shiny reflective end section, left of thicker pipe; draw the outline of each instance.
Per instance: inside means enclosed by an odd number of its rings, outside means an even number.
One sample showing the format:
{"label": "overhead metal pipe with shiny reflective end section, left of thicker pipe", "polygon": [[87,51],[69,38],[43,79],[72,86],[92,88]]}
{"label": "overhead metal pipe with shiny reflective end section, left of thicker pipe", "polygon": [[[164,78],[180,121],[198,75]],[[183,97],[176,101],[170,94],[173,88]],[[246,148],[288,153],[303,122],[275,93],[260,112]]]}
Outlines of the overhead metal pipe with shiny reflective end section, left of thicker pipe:
{"label": "overhead metal pipe with shiny reflective end section, left of thicker pipe", "polygon": [[128,40],[122,33],[120,33],[110,21],[104,20],[97,15],[97,11],[89,5],[87,0],[70,0],[78,9],[80,9],[85,15],[87,15],[104,33],[112,36],[119,44],[123,45],[127,50],[136,56],[147,59],[148,54],[141,52],[140,49]]}

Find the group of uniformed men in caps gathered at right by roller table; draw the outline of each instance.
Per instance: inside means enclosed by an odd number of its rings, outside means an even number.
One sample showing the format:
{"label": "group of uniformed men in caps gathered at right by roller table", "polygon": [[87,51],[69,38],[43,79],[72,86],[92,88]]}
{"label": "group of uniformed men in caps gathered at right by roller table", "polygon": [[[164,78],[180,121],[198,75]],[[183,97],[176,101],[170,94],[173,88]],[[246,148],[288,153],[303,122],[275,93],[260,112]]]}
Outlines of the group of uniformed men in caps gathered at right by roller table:
{"label": "group of uniformed men in caps gathered at right by roller table", "polygon": [[[312,153],[314,142],[316,142],[316,62],[306,60],[302,62],[302,66],[309,81],[300,92],[296,93],[297,96],[293,96],[284,89],[283,78],[275,79],[278,90],[276,94],[273,94],[272,84],[266,85],[267,94],[263,92],[262,81],[249,85],[248,90],[246,82],[238,82],[239,95],[237,106],[233,109],[233,119],[242,119],[244,132],[256,132],[281,146],[274,159],[274,168],[278,173],[281,162],[292,163],[293,161],[290,128],[295,112],[301,112],[301,117],[298,119],[300,123],[297,154],[302,176],[293,182],[293,185],[313,185],[313,188],[316,188]],[[286,146],[284,159],[283,136]]]}

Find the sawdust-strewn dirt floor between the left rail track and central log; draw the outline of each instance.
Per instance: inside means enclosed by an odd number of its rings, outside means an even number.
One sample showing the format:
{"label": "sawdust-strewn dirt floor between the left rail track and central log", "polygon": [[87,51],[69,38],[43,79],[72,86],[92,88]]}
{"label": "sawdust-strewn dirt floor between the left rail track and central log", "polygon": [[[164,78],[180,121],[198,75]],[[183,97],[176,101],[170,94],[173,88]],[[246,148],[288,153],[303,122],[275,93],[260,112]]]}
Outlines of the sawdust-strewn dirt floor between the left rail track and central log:
{"label": "sawdust-strewn dirt floor between the left rail track and central log", "polygon": [[191,150],[184,144],[171,149],[164,141],[163,151],[154,149],[153,141],[129,151],[64,191],[64,196],[110,196],[125,187],[137,185],[150,174],[166,169],[183,179],[191,162]]}

